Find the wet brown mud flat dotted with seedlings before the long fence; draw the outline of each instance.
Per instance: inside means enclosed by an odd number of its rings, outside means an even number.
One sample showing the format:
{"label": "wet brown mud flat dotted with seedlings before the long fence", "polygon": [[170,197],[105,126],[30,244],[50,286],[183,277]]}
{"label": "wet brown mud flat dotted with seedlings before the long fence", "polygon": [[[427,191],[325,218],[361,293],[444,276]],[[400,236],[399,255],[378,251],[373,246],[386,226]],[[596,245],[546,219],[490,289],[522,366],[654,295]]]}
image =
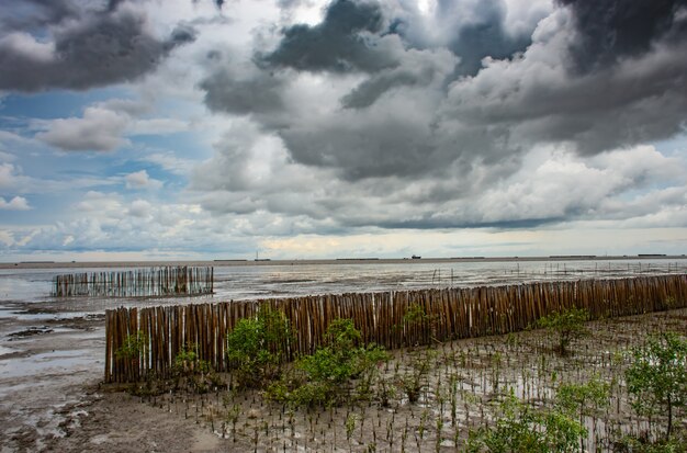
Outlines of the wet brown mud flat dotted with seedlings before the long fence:
{"label": "wet brown mud flat dotted with seedlings before the long fence", "polygon": [[[82,341],[99,341],[100,325],[98,319],[82,319],[72,327],[83,329]],[[567,358],[553,351],[553,339],[541,330],[460,340],[430,352],[395,351],[380,367],[369,399],[331,409],[291,410],[267,403],[255,392],[142,398],[99,385],[99,370],[85,361],[83,370],[71,376],[46,373],[46,380],[64,381],[65,403],[57,408],[40,407],[40,398],[32,407],[21,407],[22,392],[40,394],[41,388],[22,389],[18,378],[10,399],[19,406],[3,403],[0,414],[2,451],[449,452],[464,445],[470,430],[489,422],[503,394],[514,392],[547,406],[561,383],[582,383],[592,375],[611,383],[611,397],[608,406],[585,418],[590,431],[587,450],[610,451],[613,438],[622,433],[658,433],[661,418],[650,426],[628,405],[622,382],[627,351],[650,332],[669,329],[687,335],[687,310],[595,321],[588,327],[589,335],[573,344],[574,353]],[[58,346],[56,335],[50,337],[50,343]],[[74,338],[74,332],[66,338]],[[49,346],[44,348],[47,353]],[[79,350],[78,344],[74,350]],[[419,400],[409,403],[401,382],[414,372],[418,359],[429,361],[430,367],[423,376]],[[386,406],[383,393],[388,397]],[[35,400],[35,395],[30,399]],[[13,426],[18,410],[33,412],[35,426]],[[684,415],[676,424],[687,428]]]}

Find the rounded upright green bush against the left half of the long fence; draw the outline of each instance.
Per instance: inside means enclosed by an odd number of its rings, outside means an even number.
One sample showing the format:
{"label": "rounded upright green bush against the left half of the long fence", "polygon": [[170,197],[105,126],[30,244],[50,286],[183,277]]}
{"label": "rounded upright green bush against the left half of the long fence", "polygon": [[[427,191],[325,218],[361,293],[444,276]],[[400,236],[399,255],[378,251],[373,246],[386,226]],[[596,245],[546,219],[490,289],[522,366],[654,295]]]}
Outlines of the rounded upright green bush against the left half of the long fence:
{"label": "rounded upright green bush against the left half of the long fence", "polygon": [[282,312],[263,305],[255,319],[240,319],[227,335],[227,359],[239,387],[262,388],[281,375],[292,341]]}

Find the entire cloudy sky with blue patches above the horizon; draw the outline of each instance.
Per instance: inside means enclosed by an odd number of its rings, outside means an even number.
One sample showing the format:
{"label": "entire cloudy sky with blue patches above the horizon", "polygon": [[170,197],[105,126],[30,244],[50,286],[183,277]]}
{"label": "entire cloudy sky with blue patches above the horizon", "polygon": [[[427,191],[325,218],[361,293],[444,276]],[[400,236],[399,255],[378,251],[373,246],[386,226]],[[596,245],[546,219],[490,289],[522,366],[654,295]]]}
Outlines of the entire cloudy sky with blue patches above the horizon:
{"label": "entire cloudy sky with blue patches above the horizon", "polygon": [[687,0],[2,0],[0,261],[687,253]]}

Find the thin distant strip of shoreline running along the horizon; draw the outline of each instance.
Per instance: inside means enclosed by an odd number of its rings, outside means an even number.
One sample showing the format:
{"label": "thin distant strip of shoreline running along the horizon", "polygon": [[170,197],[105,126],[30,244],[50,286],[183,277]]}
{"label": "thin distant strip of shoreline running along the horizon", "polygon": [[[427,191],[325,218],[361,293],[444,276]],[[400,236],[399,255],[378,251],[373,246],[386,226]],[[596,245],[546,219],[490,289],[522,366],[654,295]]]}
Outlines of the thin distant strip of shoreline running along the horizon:
{"label": "thin distant strip of shoreline running along the horizon", "polygon": [[21,261],[0,263],[0,269],[79,269],[79,268],[156,268],[164,265],[255,267],[255,265],[329,265],[329,264],[441,264],[461,262],[527,262],[527,261],[637,261],[685,260],[685,254],[565,254],[548,257],[454,257],[454,258],[338,258],[304,260],[168,260],[168,261]]}

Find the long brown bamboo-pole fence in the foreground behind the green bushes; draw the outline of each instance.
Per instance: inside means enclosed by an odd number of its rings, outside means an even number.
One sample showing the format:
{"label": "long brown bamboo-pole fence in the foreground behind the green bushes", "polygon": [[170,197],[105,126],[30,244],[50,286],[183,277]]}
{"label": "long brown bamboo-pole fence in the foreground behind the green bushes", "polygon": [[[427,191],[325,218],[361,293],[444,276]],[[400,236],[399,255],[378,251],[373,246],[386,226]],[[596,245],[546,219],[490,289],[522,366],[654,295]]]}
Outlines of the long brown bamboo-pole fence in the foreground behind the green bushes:
{"label": "long brown bamboo-pole fence in the foreground behind the green bushes", "polygon": [[[417,306],[426,315],[419,322],[406,316]],[[214,370],[227,371],[226,333],[263,307],[289,319],[294,339],[285,349],[293,358],[314,352],[337,318],[351,318],[363,341],[395,349],[520,331],[573,307],[586,308],[590,319],[687,307],[687,274],[106,310],[105,382],[136,382],[151,372],[170,376],[177,354],[191,346]],[[139,356],[117,356],[127,336],[137,333],[145,339]]]}

